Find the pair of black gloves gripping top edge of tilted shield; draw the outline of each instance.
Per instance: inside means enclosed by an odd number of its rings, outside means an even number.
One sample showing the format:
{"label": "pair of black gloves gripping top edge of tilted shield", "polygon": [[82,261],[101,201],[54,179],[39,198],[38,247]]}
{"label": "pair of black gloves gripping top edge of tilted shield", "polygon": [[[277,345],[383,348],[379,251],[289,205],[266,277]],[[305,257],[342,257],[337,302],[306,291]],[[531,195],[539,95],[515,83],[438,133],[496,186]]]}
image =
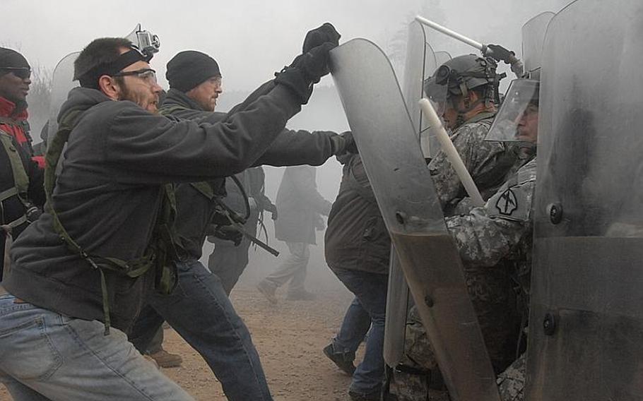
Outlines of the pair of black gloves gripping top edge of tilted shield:
{"label": "pair of black gloves gripping top edge of tilted shield", "polygon": [[275,83],[292,90],[301,104],[306,104],[312,95],[312,85],[330,72],[329,52],[338,46],[340,37],[329,23],[309,31],[304,40],[303,53],[290,66],[275,74]]}

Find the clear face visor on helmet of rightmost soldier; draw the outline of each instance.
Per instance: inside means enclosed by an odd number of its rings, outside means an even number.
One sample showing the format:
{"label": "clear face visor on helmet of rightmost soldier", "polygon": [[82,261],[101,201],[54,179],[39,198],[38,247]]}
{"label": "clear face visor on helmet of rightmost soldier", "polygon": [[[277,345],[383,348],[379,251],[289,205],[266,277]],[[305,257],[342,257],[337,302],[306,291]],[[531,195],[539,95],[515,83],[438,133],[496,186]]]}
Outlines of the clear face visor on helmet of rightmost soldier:
{"label": "clear face visor on helmet of rightmost soldier", "polygon": [[530,116],[538,118],[538,85],[537,80],[512,80],[486,140],[533,142],[523,127]]}

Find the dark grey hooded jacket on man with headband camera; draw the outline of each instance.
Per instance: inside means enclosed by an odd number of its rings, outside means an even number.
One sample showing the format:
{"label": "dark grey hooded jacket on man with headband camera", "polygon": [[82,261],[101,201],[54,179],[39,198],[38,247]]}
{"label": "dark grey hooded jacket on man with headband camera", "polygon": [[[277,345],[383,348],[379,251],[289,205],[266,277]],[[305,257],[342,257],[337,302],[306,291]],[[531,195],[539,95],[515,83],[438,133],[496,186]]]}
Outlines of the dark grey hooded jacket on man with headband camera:
{"label": "dark grey hooded jacket on man with headband camera", "polygon": [[[76,88],[61,108],[84,109],[71,131],[54,190],[64,227],[88,253],[128,261],[143,256],[168,182],[236,174],[265,152],[300,110],[282,85],[271,85],[222,124],[172,121],[102,92]],[[25,301],[74,318],[103,320],[100,274],[69,251],[45,213],[13,245],[4,287]],[[112,325],[127,330],[154,280],[109,271]]]}

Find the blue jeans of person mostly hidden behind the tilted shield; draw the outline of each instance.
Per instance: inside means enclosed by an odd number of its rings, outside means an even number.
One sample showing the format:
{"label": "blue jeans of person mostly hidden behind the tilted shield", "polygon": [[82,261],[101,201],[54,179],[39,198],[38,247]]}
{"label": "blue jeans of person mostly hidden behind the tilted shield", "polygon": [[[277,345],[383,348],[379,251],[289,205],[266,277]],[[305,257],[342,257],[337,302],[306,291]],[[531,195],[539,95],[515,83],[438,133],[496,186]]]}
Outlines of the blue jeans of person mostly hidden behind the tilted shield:
{"label": "blue jeans of person mostly hidden behind the tilted shield", "polygon": [[353,373],[350,390],[374,393],[382,388],[384,378],[384,321],[389,277],[360,270],[334,269],[333,272],[355,294],[333,340],[334,349],[336,352],[354,353],[370,328],[364,359]]}

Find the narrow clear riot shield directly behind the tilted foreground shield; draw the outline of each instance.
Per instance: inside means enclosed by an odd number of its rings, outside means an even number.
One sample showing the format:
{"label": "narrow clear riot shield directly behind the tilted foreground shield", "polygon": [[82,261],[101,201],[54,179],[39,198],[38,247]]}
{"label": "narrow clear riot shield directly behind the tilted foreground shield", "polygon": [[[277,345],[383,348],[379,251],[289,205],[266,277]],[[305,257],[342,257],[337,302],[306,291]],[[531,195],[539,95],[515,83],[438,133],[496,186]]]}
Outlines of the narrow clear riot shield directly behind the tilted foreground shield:
{"label": "narrow clear riot shield directly behind the tilted foreground shield", "polygon": [[[408,42],[406,42],[406,61],[404,63],[404,78],[402,93],[406,108],[411,115],[415,136],[425,157],[430,157],[428,130],[423,122],[419,100],[423,97],[423,83],[437,68],[435,54],[427,43],[423,25],[413,21],[408,25]],[[389,292],[387,298],[387,323],[384,330],[384,361],[388,366],[400,363],[404,354],[406,337],[406,316],[408,309],[413,306],[413,300],[408,293],[408,285],[404,279],[399,258],[391,251],[389,268]]]}

